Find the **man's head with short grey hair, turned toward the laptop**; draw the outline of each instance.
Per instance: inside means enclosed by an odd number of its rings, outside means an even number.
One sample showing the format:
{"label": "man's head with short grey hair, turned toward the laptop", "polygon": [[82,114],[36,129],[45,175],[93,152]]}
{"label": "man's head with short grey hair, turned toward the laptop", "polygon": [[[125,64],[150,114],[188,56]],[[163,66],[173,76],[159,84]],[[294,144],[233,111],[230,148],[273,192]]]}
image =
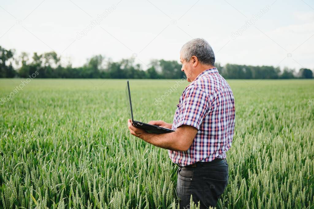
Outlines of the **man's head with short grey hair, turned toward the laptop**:
{"label": "man's head with short grey hair, turned toward the laptop", "polygon": [[192,82],[204,70],[215,67],[215,54],[205,39],[194,38],[182,46],[180,62],[187,81]]}

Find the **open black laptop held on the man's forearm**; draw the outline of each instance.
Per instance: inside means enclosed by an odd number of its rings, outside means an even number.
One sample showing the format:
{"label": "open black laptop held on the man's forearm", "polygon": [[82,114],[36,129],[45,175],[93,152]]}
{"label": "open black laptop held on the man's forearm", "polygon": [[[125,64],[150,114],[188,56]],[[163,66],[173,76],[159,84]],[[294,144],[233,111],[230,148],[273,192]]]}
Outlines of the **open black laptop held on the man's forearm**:
{"label": "open black laptop held on the man's forearm", "polygon": [[129,100],[127,100],[127,101],[130,102],[132,125],[134,127],[144,129],[147,132],[154,133],[154,134],[170,133],[170,132],[174,131],[172,129],[167,129],[167,128],[160,127],[160,126],[157,126],[157,125],[150,125],[150,124],[147,124],[147,123],[143,123],[143,122],[134,120],[133,119],[133,111],[132,111],[132,103],[131,103],[130,85],[129,85],[129,81],[128,80],[127,80],[127,89],[126,90],[127,90],[127,93],[129,94],[129,98],[128,98]]}

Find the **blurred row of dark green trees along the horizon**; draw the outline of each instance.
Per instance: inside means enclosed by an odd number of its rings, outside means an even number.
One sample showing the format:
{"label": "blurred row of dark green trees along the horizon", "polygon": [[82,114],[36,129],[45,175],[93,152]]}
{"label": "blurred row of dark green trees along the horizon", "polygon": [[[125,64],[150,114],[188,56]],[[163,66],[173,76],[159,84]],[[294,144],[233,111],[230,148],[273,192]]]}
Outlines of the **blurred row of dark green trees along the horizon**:
{"label": "blurred row of dark green trees along the horizon", "polygon": [[[16,67],[13,67],[14,63]],[[279,67],[273,66],[215,65],[225,79],[313,78],[313,72],[306,68],[296,72],[287,67],[281,71]],[[181,64],[175,60],[152,60],[148,69],[143,70],[134,58],[113,62],[102,55],[96,55],[83,66],[75,68],[62,60],[56,52],[34,53],[30,59],[25,52],[15,56],[14,50],[0,46],[0,78],[28,78],[36,71],[36,78],[181,79],[185,75],[181,71]]]}

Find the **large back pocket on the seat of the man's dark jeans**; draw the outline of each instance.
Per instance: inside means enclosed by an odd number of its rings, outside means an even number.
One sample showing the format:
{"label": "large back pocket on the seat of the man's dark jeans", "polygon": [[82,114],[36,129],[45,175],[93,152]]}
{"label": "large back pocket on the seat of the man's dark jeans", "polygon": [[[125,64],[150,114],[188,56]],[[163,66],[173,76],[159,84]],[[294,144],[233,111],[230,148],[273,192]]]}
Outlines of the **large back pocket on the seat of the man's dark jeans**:
{"label": "large back pocket on the seat of the man's dark jeans", "polygon": [[214,207],[218,198],[224,193],[228,184],[228,175],[224,178],[212,179],[203,177],[204,185],[204,203],[205,205]]}

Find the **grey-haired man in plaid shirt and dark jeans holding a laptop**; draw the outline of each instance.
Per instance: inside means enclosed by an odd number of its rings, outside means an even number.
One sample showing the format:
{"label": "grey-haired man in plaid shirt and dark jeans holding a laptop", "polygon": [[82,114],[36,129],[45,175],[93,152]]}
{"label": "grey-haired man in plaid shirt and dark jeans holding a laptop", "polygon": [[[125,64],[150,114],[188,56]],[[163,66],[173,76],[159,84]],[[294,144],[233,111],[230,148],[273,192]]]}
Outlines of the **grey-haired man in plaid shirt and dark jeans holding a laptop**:
{"label": "grey-haired man in plaid shirt and dark jeans holding a laptop", "polygon": [[150,134],[133,127],[132,135],[169,150],[171,160],[179,166],[177,194],[180,208],[189,208],[190,197],[200,208],[215,206],[228,183],[226,151],[230,149],[235,105],[229,84],[215,68],[215,55],[207,41],[195,38],[180,52],[182,71],[192,82],[183,91],[173,123],[150,121],[175,130]]}

